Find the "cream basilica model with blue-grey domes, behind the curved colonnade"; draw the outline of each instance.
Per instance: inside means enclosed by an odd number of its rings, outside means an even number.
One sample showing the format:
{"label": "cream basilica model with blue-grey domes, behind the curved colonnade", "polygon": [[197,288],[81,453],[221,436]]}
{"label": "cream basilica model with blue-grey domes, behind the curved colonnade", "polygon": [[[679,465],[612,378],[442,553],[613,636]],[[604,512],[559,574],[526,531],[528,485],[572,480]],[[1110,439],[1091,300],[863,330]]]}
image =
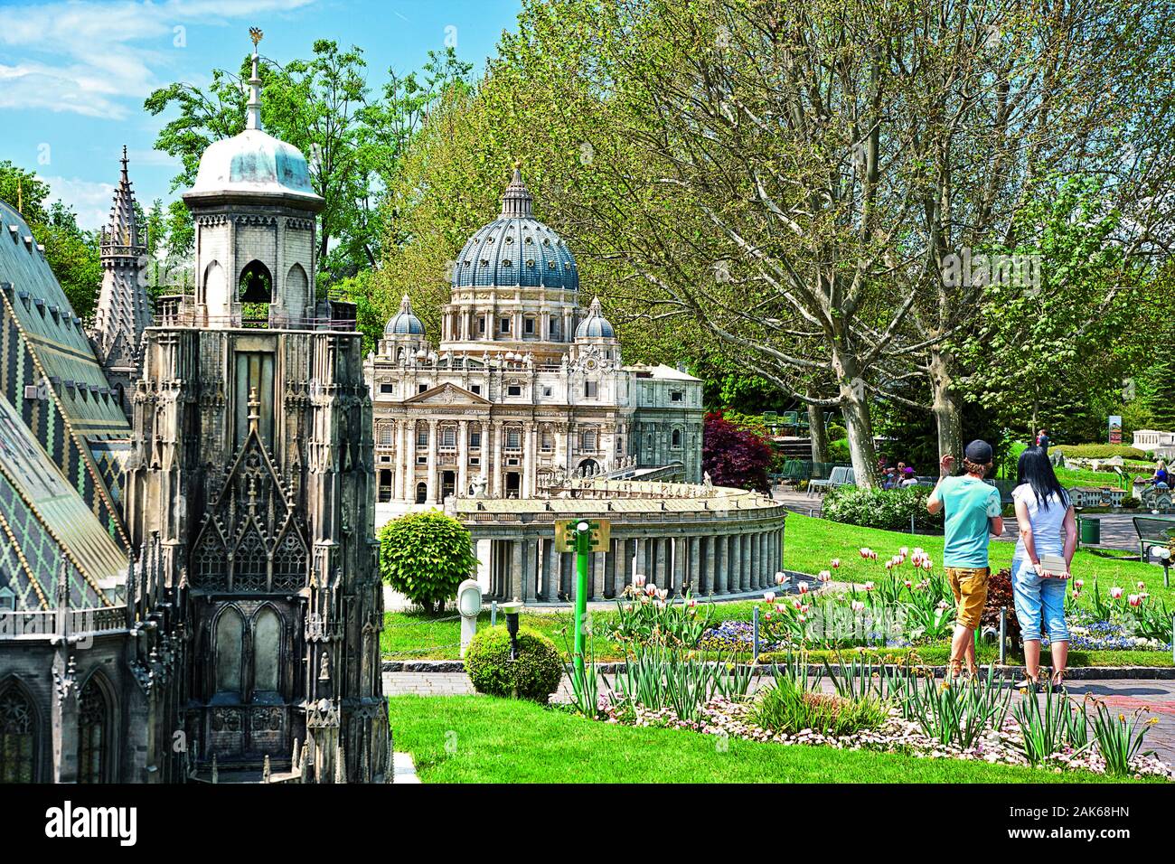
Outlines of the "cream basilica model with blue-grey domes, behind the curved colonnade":
{"label": "cream basilica model with blue-grey domes, behind the curved colonnade", "polygon": [[579,288],[516,167],[498,219],[457,256],[437,344],[405,295],[368,357],[380,502],[531,498],[568,477],[652,467],[701,481],[701,381],[624,366],[599,300],[583,308]]}

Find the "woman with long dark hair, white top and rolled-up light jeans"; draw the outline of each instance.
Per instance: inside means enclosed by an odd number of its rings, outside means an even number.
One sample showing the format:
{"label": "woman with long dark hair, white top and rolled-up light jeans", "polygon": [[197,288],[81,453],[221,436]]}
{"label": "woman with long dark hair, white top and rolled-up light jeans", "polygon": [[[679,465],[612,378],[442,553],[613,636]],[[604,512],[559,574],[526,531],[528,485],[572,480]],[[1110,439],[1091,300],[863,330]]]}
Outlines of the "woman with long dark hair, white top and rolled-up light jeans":
{"label": "woman with long dark hair, white top and rolled-up light jeans", "polygon": [[[1073,552],[1077,548],[1077,522],[1073,515],[1069,494],[1056,480],[1045,448],[1027,448],[1020,454],[1016,468],[1018,484],[1012,491],[1012,500],[1016,505],[1020,538],[1012,557],[1012,588],[1028,674],[1020,686],[1035,688],[1039,683],[1040,631],[1043,621],[1053,649],[1052,684],[1060,688],[1069,657],[1065,591],[1069,581]],[[1065,571],[1047,572],[1040,563],[1042,555],[1062,556]]]}

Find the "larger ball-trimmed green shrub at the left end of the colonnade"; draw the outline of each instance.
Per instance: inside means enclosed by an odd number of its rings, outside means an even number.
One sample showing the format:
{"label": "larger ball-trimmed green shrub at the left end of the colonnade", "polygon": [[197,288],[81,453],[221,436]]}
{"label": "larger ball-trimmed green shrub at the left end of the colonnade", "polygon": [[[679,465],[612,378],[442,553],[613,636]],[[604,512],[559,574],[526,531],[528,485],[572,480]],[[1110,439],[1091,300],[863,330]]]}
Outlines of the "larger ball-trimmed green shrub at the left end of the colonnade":
{"label": "larger ball-trimmed green shrub at the left end of the colonnade", "polygon": [[477,570],[469,530],[439,510],[412,513],[380,529],[380,576],[427,612],[441,612]]}

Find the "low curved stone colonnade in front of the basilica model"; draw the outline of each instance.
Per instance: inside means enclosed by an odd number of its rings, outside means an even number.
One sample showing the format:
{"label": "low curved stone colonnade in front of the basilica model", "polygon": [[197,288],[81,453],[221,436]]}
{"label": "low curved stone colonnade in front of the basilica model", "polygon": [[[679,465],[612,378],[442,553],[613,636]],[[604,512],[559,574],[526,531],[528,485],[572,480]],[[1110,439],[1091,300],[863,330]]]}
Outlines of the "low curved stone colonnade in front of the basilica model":
{"label": "low curved stone colonnade in front of the basilica model", "polygon": [[[589,561],[590,600],[619,596],[644,575],[679,596],[754,591],[781,569],[787,511],[757,493],[687,483],[576,478],[552,497],[450,498],[489,565],[488,595],[568,602],[575,556],[555,548],[555,522],[606,518],[610,549]],[[485,543],[488,542],[488,544]],[[489,550],[488,561],[485,549]]]}

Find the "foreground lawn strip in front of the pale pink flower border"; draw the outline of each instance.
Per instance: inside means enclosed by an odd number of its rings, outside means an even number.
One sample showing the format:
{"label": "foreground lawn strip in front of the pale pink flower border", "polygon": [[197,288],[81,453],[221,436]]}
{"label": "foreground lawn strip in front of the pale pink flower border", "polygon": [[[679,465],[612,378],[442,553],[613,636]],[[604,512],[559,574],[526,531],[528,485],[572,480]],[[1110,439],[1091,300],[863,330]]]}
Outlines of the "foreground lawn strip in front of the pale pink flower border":
{"label": "foreground lawn strip in front of the pale pink flower border", "polygon": [[[489,696],[388,699],[424,783],[1097,783],[1087,772],[724,741]],[[725,746],[725,749],[724,749]]]}

